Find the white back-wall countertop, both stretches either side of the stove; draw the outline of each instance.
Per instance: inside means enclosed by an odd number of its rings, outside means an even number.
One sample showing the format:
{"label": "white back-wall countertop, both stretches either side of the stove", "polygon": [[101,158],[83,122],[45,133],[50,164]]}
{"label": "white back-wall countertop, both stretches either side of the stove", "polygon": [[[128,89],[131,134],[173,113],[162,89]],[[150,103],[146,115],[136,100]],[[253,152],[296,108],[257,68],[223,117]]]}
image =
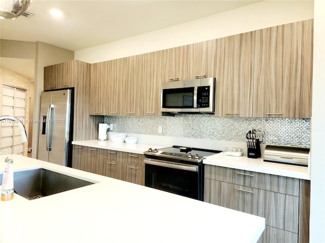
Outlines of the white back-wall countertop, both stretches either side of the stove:
{"label": "white back-wall countertop, both stretches either side of the stove", "polygon": [[[157,145],[138,144],[138,143],[137,144],[113,143],[110,140],[74,141],[72,142],[72,144],[87,146],[87,147],[112,149],[112,150],[118,150],[123,152],[139,153],[139,154],[143,154],[143,152],[148,150],[148,148],[150,147],[151,148],[168,147],[166,145],[157,146]],[[207,156],[203,160],[203,164],[310,180],[308,167],[264,162],[263,158],[248,158],[247,155],[235,157],[235,156],[225,155],[224,152],[221,152],[215,155]]]}

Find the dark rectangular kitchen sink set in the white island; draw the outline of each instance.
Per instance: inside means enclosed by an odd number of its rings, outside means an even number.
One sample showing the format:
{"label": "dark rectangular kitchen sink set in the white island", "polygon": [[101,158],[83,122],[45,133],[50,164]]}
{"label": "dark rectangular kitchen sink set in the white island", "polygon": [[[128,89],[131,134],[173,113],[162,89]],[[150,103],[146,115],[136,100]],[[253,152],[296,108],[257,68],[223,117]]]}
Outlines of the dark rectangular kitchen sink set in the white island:
{"label": "dark rectangular kitchen sink set in the white island", "polygon": [[[3,175],[0,175],[2,183]],[[46,169],[14,173],[14,190],[29,200],[94,184],[89,181],[63,175]]]}

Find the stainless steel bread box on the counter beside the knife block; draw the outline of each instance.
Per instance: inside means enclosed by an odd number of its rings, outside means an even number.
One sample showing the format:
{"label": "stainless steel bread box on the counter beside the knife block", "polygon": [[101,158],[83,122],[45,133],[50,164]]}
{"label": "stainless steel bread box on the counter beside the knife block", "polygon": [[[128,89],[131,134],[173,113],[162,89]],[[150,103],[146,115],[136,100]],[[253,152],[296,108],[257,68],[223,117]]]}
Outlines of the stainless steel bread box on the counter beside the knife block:
{"label": "stainless steel bread box on the counter beside the knife block", "polygon": [[267,145],[264,161],[289,165],[308,166],[309,148]]}

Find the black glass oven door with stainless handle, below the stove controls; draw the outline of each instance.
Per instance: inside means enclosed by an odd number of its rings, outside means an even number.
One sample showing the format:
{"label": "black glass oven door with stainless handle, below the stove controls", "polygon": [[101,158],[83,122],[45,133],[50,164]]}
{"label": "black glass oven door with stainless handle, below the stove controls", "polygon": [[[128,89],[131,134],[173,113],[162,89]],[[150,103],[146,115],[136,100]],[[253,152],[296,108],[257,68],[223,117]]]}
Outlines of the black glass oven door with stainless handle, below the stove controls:
{"label": "black glass oven door with stainless handle, below the stove controls", "polygon": [[[200,166],[145,159],[145,186],[203,200]],[[202,167],[201,167],[202,168]]]}

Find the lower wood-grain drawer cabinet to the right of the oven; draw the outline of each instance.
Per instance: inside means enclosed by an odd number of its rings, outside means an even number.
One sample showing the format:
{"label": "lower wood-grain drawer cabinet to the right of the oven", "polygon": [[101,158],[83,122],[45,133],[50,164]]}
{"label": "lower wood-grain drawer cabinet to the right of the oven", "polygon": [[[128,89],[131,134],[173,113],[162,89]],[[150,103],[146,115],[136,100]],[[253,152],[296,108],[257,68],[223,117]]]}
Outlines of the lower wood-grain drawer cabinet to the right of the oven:
{"label": "lower wood-grain drawer cabinet to the right of the oven", "polygon": [[266,219],[258,242],[308,242],[306,180],[205,165],[204,201]]}

